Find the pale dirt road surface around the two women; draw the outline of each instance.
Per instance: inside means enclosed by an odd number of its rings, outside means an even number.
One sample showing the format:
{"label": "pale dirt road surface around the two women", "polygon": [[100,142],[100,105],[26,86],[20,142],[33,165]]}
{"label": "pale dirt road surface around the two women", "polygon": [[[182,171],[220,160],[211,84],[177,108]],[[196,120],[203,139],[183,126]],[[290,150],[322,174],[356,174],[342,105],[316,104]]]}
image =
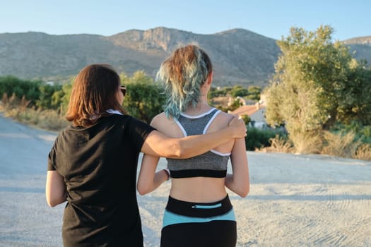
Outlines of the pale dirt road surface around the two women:
{"label": "pale dirt road surface around the two women", "polygon": [[[44,193],[54,138],[0,116],[0,246],[61,246],[64,205],[49,208]],[[247,155],[251,191],[230,192],[237,246],[371,246],[371,162]],[[139,195],[146,246],[158,246],[169,188]]]}

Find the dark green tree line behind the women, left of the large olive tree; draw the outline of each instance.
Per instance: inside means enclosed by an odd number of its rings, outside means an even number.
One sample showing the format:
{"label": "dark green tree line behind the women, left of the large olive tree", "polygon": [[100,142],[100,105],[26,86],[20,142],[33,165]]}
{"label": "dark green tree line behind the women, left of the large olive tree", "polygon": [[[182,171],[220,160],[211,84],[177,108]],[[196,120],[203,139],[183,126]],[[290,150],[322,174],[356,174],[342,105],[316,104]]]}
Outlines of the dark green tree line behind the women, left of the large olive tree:
{"label": "dark green tree line behind the women, left of the large olive tree", "polygon": [[[129,77],[121,73],[120,80],[126,86],[126,96],[123,106],[131,116],[151,123],[153,117],[163,111],[165,95],[163,87],[155,83],[153,78],[144,71],[136,71]],[[14,76],[0,77],[0,94],[15,95],[19,99],[24,97],[28,107],[35,109],[53,109],[62,114],[69,104],[73,78],[66,83],[54,84],[42,80],[22,80]],[[240,85],[224,88],[212,88],[209,98],[213,97],[246,97],[250,100],[259,100],[261,89],[257,86],[243,88]],[[216,106],[225,111],[239,107],[237,101],[230,107]]]}

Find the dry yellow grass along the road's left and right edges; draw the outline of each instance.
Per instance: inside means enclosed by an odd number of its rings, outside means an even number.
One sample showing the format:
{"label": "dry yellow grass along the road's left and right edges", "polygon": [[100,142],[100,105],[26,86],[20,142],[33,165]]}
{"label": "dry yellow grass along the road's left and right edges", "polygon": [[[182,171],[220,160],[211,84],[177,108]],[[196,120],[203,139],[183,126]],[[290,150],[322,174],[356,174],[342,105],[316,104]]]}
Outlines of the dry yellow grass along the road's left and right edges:
{"label": "dry yellow grass along the road's left and right edges", "polygon": [[[30,101],[25,100],[25,97],[19,100],[16,95],[8,97],[4,94],[0,102],[0,111],[4,112],[6,117],[48,131],[61,131],[69,125],[69,121],[66,121],[64,116],[57,111],[36,110],[28,108],[29,104]],[[299,138],[296,138],[297,140],[292,142],[276,135],[275,138],[270,139],[270,147],[263,147],[257,151],[296,152],[300,154],[321,153],[322,155],[371,160],[371,145],[354,141],[354,138],[355,133],[339,135],[326,131],[323,136],[300,135]],[[295,143],[295,147],[293,143]]]}

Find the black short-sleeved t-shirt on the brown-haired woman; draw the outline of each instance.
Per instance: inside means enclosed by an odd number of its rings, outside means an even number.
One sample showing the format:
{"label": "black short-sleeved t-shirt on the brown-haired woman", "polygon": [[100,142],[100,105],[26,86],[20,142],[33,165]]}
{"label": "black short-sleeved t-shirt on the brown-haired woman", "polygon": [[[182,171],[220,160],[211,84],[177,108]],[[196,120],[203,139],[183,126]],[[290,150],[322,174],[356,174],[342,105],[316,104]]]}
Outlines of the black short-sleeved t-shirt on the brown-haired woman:
{"label": "black short-sleeved t-shirt on the brown-haired woman", "polygon": [[154,128],[131,116],[69,126],[49,153],[48,170],[67,186],[64,246],[143,246],[136,200],[139,152]]}

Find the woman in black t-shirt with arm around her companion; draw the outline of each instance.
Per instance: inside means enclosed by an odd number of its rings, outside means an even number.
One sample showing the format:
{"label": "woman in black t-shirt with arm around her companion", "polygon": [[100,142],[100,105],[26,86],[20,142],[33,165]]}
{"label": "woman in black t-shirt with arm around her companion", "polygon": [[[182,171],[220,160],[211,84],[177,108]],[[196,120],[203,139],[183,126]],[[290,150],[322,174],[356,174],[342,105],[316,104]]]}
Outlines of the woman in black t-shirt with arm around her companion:
{"label": "woman in black t-shirt with arm around her companion", "polygon": [[[125,114],[125,88],[106,64],[83,68],[72,85],[66,119],[48,157],[49,206],[66,203],[64,246],[143,246],[136,200],[139,152],[187,158],[245,135],[233,123],[218,133],[169,138]],[[166,176],[163,171],[163,176]]]}

